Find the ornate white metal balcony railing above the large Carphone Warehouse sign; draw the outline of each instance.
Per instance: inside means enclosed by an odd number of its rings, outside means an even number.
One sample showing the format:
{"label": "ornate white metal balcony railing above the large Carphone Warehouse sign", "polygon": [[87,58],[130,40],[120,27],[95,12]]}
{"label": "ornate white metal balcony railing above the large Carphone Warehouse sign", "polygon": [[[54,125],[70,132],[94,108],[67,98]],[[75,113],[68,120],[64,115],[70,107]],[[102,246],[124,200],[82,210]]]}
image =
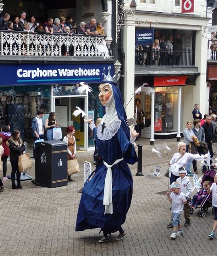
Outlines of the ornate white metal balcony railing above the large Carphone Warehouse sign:
{"label": "ornate white metal balcony railing above the large Carphone Warehouse sign", "polygon": [[27,56],[104,56],[97,46],[103,36],[0,32],[1,55]]}

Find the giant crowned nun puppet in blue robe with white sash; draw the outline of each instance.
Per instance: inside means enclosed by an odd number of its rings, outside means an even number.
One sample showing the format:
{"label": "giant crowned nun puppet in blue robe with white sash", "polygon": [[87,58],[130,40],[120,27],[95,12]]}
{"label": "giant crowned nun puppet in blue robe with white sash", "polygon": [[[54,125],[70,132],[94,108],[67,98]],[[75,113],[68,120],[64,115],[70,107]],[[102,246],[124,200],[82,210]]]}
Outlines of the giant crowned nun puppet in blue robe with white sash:
{"label": "giant crowned nun puppet in blue robe with white sash", "polygon": [[133,142],[138,136],[126,124],[126,113],[117,87],[118,74],[104,74],[99,86],[103,119],[98,126],[96,144],[102,159],[86,181],[77,214],[76,231],[100,228],[103,237],[119,231],[116,240],[125,237],[125,223],[133,192],[132,174],[127,163],[138,161]]}

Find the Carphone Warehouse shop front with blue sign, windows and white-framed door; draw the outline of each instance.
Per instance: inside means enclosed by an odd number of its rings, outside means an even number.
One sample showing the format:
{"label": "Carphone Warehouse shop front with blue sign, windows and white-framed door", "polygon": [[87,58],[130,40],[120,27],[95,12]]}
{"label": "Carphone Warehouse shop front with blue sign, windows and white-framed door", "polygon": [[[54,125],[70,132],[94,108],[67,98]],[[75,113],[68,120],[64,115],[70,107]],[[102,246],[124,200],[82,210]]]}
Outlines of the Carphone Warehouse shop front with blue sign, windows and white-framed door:
{"label": "Carphone Warehouse shop front with blue sign, windows and white-framed door", "polygon": [[[94,147],[92,131],[81,115],[72,115],[76,106],[88,118],[102,117],[98,100],[98,86],[103,79],[103,68],[113,64],[4,64],[0,65],[0,125],[10,125],[10,130],[19,130],[27,142],[27,151],[32,154],[32,120],[38,109],[44,110],[44,120],[49,113],[56,113],[56,121],[62,128],[74,125],[78,149]],[[92,92],[78,92],[80,82],[85,82]],[[45,131],[46,138],[46,131]]]}

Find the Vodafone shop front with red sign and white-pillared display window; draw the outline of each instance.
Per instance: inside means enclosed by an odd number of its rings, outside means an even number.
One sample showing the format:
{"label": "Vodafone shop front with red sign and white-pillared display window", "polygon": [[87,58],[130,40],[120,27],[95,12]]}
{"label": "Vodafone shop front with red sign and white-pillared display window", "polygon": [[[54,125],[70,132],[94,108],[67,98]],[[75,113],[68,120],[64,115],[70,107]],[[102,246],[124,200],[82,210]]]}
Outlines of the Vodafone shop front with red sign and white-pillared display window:
{"label": "Vodafone shop front with red sign and white-pillared display window", "polygon": [[[137,83],[140,80],[137,80]],[[183,87],[195,84],[195,77],[191,76],[146,76],[142,82],[148,82],[152,88],[151,95],[142,93],[142,109],[145,113],[145,128],[141,136],[150,138],[151,145],[154,138],[180,139],[180,127],[183,127]]]}

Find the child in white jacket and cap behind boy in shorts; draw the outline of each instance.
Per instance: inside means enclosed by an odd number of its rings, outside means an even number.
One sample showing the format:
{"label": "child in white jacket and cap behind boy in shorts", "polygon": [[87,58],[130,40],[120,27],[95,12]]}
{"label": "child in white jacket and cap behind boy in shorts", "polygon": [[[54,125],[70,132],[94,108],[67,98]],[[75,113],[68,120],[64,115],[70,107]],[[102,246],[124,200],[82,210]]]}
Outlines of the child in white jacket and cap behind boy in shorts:
{"label": "child in white jacket and cap behind boy in shorts", "polygon": [[192,191],[192,184],[188,177],[186,177],[187,171],[184,167],[179,168],[179,178],[176,180],[176,182],[179,182],[180,184],[180,191],[184,193],[187,203],[184,205],[184,218],[185,223],[184,226],[190,226],[190,212],[189,212],[189,201],[190,201],[190,194]]}

